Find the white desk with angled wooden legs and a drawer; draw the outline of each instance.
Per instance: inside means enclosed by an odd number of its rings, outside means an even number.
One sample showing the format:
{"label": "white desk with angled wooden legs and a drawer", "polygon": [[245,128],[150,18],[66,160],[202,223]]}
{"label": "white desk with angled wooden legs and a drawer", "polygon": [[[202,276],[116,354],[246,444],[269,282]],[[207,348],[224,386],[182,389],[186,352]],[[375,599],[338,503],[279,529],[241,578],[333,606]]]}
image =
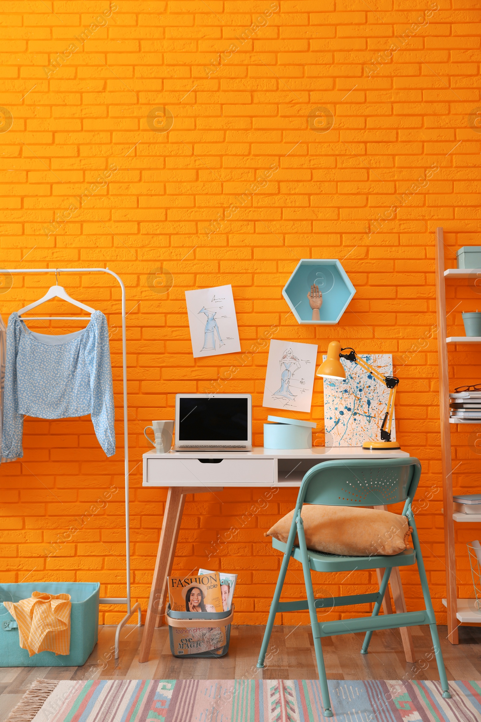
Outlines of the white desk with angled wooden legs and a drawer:
{"label": "white desk with angled wooden legs and a drawer", "polygon": [[[187,494],[219,491],[224,487],[299,487],[312,466],[343,459],[405,458],[406,451],[367,451],[361,446],[273,450],[261,446],[252,451],[170,451],[167,454],[144,453],[144,487],[169,487],[164,522],[152,579],[149,608],[138,661],[146,662],[154,628],[162,624],[167,599],[167,577],[172,573],[175,549]],[[384,507],[381,507],[384,508]],[[381,573],[376,570],[379,584]],[[406,612],[399,569],[390,578],[397,612]],[[384,614],[392,614],[389,593],[384,597]],[[408,628],[401,629],[406,660],[414,662],[414,648]]]}

